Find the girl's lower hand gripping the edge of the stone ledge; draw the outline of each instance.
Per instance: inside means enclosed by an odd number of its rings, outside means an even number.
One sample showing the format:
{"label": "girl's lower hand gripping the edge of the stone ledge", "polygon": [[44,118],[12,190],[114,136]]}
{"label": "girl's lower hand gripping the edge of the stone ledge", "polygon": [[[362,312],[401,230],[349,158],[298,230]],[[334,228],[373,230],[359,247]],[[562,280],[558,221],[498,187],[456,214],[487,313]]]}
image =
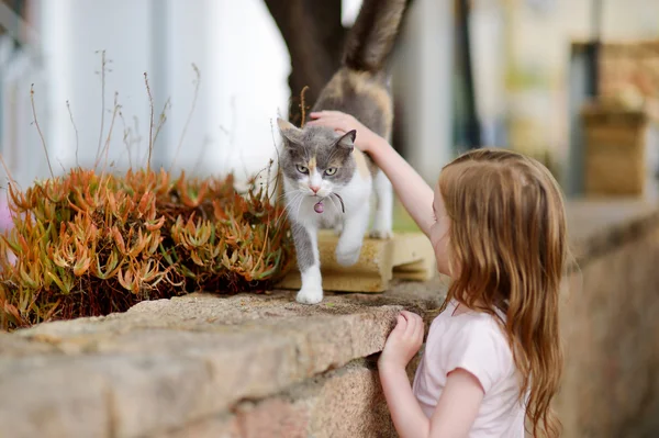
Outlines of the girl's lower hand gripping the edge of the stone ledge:
{"label": "girl's lower hand gripping the edge of the stone ledge", "polygon": [[380,368],[404,369],[423,344],[424,324],[421,316],[403,311],[391,330],[378,364]]}

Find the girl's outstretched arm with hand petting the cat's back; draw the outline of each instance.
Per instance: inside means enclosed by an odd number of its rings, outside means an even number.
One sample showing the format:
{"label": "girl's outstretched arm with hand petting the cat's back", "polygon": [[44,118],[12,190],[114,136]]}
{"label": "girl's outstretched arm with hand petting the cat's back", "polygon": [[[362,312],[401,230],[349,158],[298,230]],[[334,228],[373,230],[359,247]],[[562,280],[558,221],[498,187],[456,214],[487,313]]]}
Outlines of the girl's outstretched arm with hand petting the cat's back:
{"label": "girl's outstretched arm with hand petting the cat's back", "polygon": [[330,126],[335,131],[347,133],[357,131],[355,146],[368,154],[387,175],[399,199],[410,212],[421,231],[429,236],[433,225],[433,189],[401,157],[384,138],[364,126],[357,119],[338,111],[321,111],[311,113],[314,119],[309,125]]}

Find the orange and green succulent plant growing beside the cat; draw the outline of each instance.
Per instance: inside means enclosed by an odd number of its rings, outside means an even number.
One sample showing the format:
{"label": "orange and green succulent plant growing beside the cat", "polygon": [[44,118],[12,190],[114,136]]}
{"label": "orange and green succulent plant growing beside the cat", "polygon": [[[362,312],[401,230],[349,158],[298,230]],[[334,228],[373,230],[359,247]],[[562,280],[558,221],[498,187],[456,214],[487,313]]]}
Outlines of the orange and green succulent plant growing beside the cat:
{"label": "orange and green succulent plant growing beside the cat", "polygon": [[293,261],[283,206],[233,177],[76,168],[10,184],[0,235],[0,327],[121,312],[191,291],[267,290]]}

